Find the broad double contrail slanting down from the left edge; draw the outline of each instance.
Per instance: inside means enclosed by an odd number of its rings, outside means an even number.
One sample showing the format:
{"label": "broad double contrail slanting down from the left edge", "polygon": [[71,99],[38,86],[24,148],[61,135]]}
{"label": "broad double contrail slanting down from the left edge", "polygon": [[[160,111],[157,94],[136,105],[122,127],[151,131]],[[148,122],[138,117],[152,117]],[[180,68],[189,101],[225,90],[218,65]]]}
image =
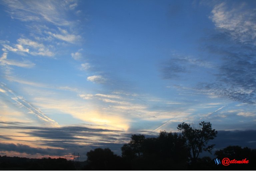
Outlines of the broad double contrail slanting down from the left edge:
{"label": "broad double contrail slanting down from the left edge", "polygon": [[52,127],[59,127],[59,124],[54,121],[53,119],[47,117],[43,112],[36,109],[32,104],[27,102],[23,97],[17,96],[14,94],[12,90],[4,86],[4,83],[0,84],[2,89],[0,92],[4,93],[6,96],[10,97],[12,100],[14,100],[19,106],[27,109],[30,114],[34,114],[40,121],[43,121],[43,123],[46,123]]}

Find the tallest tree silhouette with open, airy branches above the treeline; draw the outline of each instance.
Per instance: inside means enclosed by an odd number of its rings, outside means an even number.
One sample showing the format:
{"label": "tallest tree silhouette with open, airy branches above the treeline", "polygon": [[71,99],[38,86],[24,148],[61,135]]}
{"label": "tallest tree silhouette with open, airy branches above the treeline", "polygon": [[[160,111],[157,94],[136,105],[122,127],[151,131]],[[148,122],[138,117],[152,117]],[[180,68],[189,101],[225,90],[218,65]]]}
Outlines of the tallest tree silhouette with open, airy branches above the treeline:
{"label": "tallest tree silhouette with open, airy branches above the treeline", "polygon": [[187,140],[187,145],[192,153],[190,159],[192,163],[197,161],[199,154],[204,150],[211,153],[213,145],[206,146],[209,140],[214,139],[217,136],[218,131],[212,129],[210,122],[202,121],[199,123],[199,128],[193,128],[190,124],[181,123],[178,124],[178,130],[182,130],[183,137]]}

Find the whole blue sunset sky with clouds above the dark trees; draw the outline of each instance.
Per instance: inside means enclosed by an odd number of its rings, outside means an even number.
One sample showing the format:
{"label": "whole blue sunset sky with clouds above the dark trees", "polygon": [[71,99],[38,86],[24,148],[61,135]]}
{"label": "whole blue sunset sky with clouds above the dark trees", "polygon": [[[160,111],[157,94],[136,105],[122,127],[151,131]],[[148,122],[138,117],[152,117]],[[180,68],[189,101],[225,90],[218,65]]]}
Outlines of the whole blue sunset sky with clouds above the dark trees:
{"label": "whole blue sunset sky with clouds above the dark trees", "polygon": [[1,0],[0,155],[121,154],[211,122],[256,148],[256,1]]}

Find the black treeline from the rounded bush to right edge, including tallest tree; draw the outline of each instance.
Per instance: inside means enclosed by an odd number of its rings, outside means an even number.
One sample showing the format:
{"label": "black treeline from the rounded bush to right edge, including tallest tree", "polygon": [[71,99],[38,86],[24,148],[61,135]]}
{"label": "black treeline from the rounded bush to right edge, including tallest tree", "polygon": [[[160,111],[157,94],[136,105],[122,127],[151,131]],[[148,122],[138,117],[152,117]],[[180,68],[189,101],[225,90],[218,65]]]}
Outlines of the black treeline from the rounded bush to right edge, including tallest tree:
{"label": "black treeline from the rounded bush to right edge, including tallest tree", "polygon": [[[228,146],[215,152],[218,162],[249,160],[249,163],[218,164],[210,157],[199,157],[203,151],[212,152],[214,144],[208,142],[217,136],[210,122],[201,122],[195,128],[187,123],[177,127],[181,134],[161,131],[158,137],[131,136],[121,148],[122,156],[110,149],[97,148],[87,152],[88,164],[84,170],[255,170],[256,150],[240,146]],[[215,158],[215,159],[216,159]],[[221,162],[221,161],[220,161]]]}

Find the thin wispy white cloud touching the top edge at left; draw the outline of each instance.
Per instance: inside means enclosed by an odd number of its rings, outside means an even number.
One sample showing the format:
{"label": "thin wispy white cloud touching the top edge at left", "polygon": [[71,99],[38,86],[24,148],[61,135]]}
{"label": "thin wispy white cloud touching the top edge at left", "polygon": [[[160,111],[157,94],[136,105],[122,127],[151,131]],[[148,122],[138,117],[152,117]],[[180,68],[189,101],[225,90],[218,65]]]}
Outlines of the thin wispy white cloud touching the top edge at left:
{"label": "thin wispy white cloud touching the top edge at left", "polygon": [[66,18],[76,3],[69,1],[3,1],[12,18],[21,21],[47,21],[58,26],[66,26],[71,22]]}

